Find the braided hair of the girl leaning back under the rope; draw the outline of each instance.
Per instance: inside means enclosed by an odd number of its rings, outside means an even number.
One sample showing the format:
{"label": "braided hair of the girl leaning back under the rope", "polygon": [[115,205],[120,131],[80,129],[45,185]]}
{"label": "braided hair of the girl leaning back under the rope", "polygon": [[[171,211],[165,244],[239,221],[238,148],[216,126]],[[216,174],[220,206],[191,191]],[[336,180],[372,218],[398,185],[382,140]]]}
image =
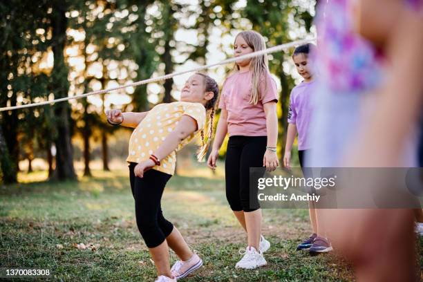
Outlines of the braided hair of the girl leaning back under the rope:
{"label": "braided hair of the girl leaning back under the rope", "polygon": [[[207,153],[207,150],[209,149],[210,141],[212,140],[213,136],[213,125],[214,125],[214,113],[216,111],[216,101],[218,100],[218,94],[219,94],[219,86],[216,82],[216,80],[212,79],[212,77],[209,77],[208,75],[205,75],[204,73],[196,73],[196,75],[200,75],[204,79],[205,84],[205,92],[213,92],[213,98],[207,101],[205,104],[206,113],[209,115],[209,123],[208,126],[205,126],[204,129],[201,129],[200,135],[201,135],[201,147],[197,151],[197,159],[198,161],[202,162],[204,160],[204,157]],[[206,122],[207,124],[207,122]],[[208,127],[207,132],[207,142],[205,142],[205,129]]]}

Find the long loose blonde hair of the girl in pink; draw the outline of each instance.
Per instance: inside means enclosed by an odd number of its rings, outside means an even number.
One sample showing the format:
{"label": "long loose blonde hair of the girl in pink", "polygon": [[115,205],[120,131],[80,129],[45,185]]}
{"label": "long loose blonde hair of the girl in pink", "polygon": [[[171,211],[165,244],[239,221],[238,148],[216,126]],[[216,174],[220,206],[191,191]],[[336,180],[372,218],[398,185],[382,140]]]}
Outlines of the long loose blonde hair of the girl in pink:
{"label": "long loose blonde hair of the girl in pink", "polygon": [[[247,30],[239,32],[236,37],[241,36],[247,42],[248,46],[252,48],[253,52],[259,50],[265,50],[266,44],[263,36],[259,32],[253,30]],[[239,71],[239,66],[235,64],[235,69]],[[261,93],[260,82],[261,79],[264,79],[265,89],[267,88],[266,84],[266,75],[269,73],[269,61],[267,55],[257,56],[251,59],[250,70],[252,71],[252,91],[250,97],[250,104],[256,105],[260,100]]]}

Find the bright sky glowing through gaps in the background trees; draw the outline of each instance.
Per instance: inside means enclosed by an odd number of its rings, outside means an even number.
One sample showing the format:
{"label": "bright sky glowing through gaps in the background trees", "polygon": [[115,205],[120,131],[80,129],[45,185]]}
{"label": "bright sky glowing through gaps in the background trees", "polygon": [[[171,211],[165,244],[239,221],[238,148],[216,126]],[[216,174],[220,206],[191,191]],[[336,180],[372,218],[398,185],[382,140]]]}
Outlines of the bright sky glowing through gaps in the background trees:
{"label": "bright sky glowing through gaps in the background trees", "polygon": [[[189,4],[187,9],[189,10],[189,17],[185,17],[181,12],[175,12],[173,17],[175,17],[179,23],[180,28],[176,30],[174,33],[174,40],[171,41],[172,46],[174,49],[171,53],[173,62],[175,63],[175,71],[186,71],[189,68],[193,68],[196,66],[200,66],[198,62],[195,62],[192,59],[187,59],[189,56],[189,51],[187,48],[191,46],[198,46],[200,40],[204,40],[202,38],[204,35],[199,35],[197,30],[194,29],[194,25],[196,23],[196,17],[200,14],[200,7],[198,1],[192,0],[178,0],[174,1],[180,4]],[[303,9],[308,10],[310,15],[314,16],[314,1],[303,1],[297,0],[294,1],[297,6],[301,6]],[[241,30],[250,30],[252,29],[252,24],[248,19],[241,18],[239,13],[240,10],[245,8],[247,5],[245,0],[236,1],[233,5],[234,12],[232,13],[233,21],[237,21],[234,26],[236,28],[228,29],[225,24],[222,23],[220,20],[221,14],[220,11],[222,8],[220,6],[214,6],[212,14],[212,27],[209,30],[209,45],[207,46],[207,54],[206,54],[206,62],[205,64],[211,64],[215,62],[219,62],[223,59],[227,59],[228,57],[232,57],[233,50],[232,44],[234,41],[234,37],[238,32]],[[152,38],[160,38],[162,35],[160,32],[154,32],[151,30],[149,23],[153,23],[154,18],[161,17],[160,7],[156,4],[152,4],[147,8],[147,32],[151,32]],[[127,17],[129,21],[135,21],[137,19],[137,15],[131,13],[135,12],[138,9],[137,6],[131,6],[129,9],[120,10],[115,12],[113,17],[110,19],[110,23],[107,23],[106,28],[112,28],[113,22],[118,21],[119,19]],[[69,19],[75,18],[77,19],[80,17],[78,11],[71,11],[66,12],[66,17]],[[104,17],[104,10],[101,5],[96,6],[95,9],[91,10],[91,17],[101,18]],[[294,21],[293,17],[288,18],[288,24],[290,26],[289,35],[292,39],[305,39],[314,37],[315,29],[312,28],[312,35],[308,35],[306,32],[306,28],[303,26],[299,26],[299,23]],[[39,28],[37,29],[37,34],[40,36],[41,40],[43,38],[51,37],[46,30]],[[122,32],[126,32],[122,29]],[[88,44],[88,46],[84,45],[85,39],[85,31],[84,29],[71,29],[68,28],[67,35],[71,38],[71,44],[66,47],[65,56],[66,62],[70,67],[70,71],[68,74],[68,80],[71,82],[71,88],[69,90],[69,95],[78,95],[84,92],[84,88],[79,87],[83,84],[84,79],[86,76],[92,77],[89,83],[89,90],[97,91],[102,89],[102,83],[100,79],[102,79],[104,73],[107,73],[108,79],[106,83],[106,88],[111,88],[118,86],[120,84],[128,84],[134,82],[133,79],[136,78],[136,70],[138,67],[142,68],[142,66],[137,66],[133,60],[130,58],[123,59],[123,60],[115,60],[115,59],[104,59],[104,62],[99,62],[99,54],[97,53],[99,46],[95,46],[94,44]],[[115,37],[109,37],[106,41],[106,48],[116,48],[118,51],[122,52],[125,49],[125,45],[116,41]],[[160,41],[159,41],[160,42]],[[183,44],[179,44],[183,43]],[[142,44],[142,42],[140,42]],[[185,45],[189,44],[189,45]],[[84,48],[85,46],[85,48]],[[271,46],[267,46],[271,47]],[[85,49],[85,50],[84,50]],[[156,46],[156,52],[158,54],[163,52],[163,47]],[[84,56],[84,53],[86,57]],[[269,59],[272,60],[272,55],[269,56]],[[53,51],[51,48],[48,49],[48,52],[41,53],[37,52],[35,55],[32,56],[32,63],[37,63],[36,66],[39,71],[44,73],[49,73],[53,69],[54,59],[53,59]],[[104,69],[106,68],[106,69]],[[287,61],[283,63],[284,71],[290,73],[298,82],[301,80],[299,75],[294,70],[294,65],[292,62]],[[213,68],[208,70],[209,75],[212,75],[220,86],[223,83],[223,79],[228,70],[232,69],[232,66],[219,66],[217,68]],[[153,77],[157,77],[160,75],[164,75],[164,63],[160,63],[158,69],[153,73]],[[191,74],[180,75],[173,79],[173,91],[171,95],[178,100],[180,97],[180,89],[182,88],[185,80]],[[276,82],[278,82],[278,78],[275,76]],[[152,104],[156,104],[160,102],[159,94],[162,93],[163,87],[162,84],[149,84],[147,87],[147,95],[148,100]],[[86,92],[86,91],[85,91]],[[109,108],[111,104],[114,107],[120,107],[124,104],[128,104],[131,102],[131,96],[134,92],[132,87],[126,88],[122,91],[116,91],[113,93],[105,94],[105,107]],[[52,99],[53,96],[50,95],[49,99]],[[101,111],[102,106],[102,97],[101,95],[91,96],[88,97],[88,101],[97,106],[97,111]],[[18,102],[23,102],[21,99]],[[37,99],[34,101],[37,102]],[[77,102],[71,102],[73,106],[77,107]]]}

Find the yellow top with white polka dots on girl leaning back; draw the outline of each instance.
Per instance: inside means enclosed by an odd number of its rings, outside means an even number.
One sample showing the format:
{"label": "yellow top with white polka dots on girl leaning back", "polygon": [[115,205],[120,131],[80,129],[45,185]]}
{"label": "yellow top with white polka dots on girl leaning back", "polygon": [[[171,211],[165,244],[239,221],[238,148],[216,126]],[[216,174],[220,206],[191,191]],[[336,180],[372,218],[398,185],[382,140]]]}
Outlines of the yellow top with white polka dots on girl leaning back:
{"label": "yellow top with white polka dots on girl leaning back", "polygon": [[176,165],[176,151],[188,144],[205,125],[205,107],[200,103],[173,102],[158,104],[134,129],[129,140],[129,156],[127,162],[142,162],[160,147],[167,135],[175,129],[182,115],[189,115],[197,122],[197,131],[183,140],[178,148],[169,156],[160,160],[160,166],[153,167],[158,171],[173,175]]}

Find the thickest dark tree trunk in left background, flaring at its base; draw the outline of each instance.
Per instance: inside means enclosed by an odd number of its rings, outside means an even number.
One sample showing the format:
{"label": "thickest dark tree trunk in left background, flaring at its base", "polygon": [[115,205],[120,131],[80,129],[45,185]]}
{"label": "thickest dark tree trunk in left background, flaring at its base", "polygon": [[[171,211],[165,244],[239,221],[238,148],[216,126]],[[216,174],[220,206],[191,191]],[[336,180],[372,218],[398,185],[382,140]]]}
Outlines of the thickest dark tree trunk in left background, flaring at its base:
{"label": "thickest dark tree trunk in left background, flaring at its base", "polygon": [[[56,2],[52,16],[53,36],[51,44],[53,46],[54,58],[51,88],[55,89],[56,98],[67,97],[69,88],[68,69],[64,62],[67,24],[65,12],[66,5]],[[69,120],[71,119],[69,104],[67,102],[55,104],[54,113],[57,119],[57,138],[55,140],[57,155],[56,170],[53,178],[57,178],[58,180],[76,180],[69,124]]]}

